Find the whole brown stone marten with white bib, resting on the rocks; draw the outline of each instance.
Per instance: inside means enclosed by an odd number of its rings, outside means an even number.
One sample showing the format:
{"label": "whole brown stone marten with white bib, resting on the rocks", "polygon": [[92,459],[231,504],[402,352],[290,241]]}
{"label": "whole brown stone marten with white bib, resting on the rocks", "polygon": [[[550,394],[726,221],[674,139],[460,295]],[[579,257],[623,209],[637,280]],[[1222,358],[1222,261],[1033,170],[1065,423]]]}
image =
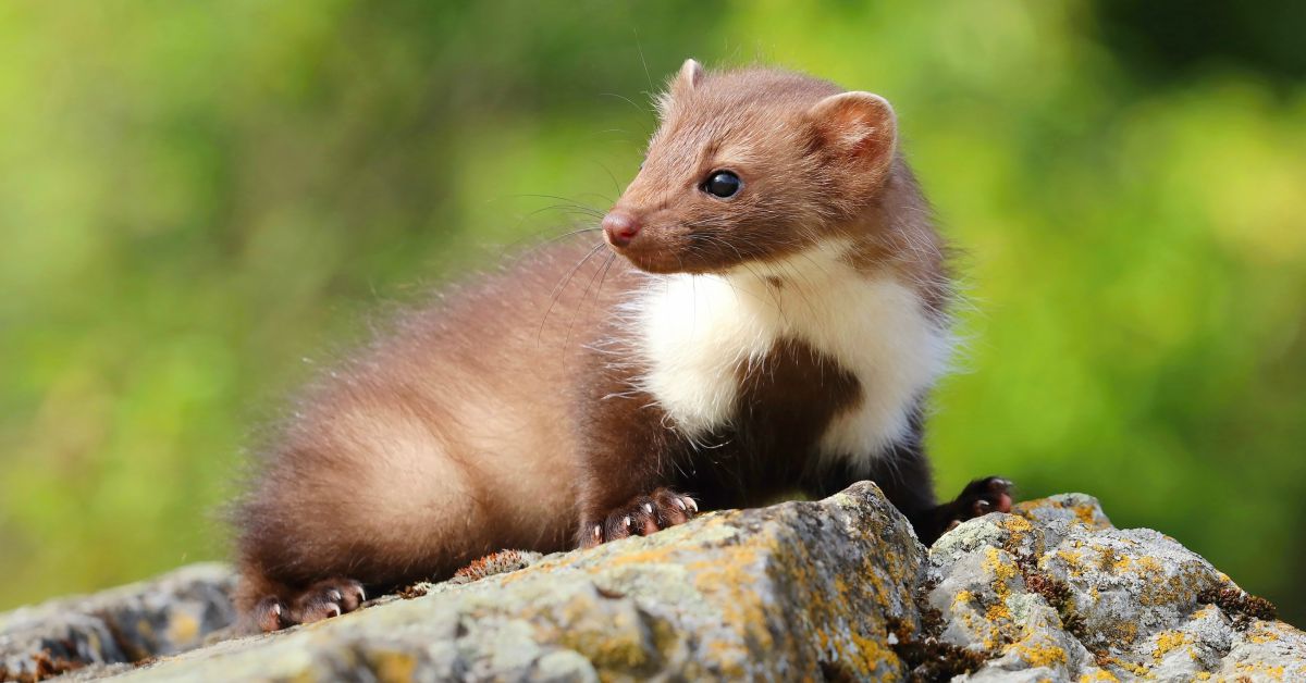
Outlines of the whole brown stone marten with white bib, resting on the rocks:
{"label": "whole brown stone marten with white bib, resting on the rocks", "polygon": [[236,504],[252,624],[859,479],[926,543],[1010,508],[998,478],[934,498],[952,290],[889,103],[688,60],[657,108],[603,242],[400,316],[302,393]]}

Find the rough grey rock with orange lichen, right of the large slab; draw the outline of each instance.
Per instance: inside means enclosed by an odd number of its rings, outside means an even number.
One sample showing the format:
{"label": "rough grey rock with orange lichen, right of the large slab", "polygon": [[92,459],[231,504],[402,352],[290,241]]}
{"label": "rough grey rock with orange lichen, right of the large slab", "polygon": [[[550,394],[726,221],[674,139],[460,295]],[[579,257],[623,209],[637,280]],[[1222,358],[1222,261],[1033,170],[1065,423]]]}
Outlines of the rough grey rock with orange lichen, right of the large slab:
{"label": "rough grey rock with orange lichen, right of the large slab", "polygon": [[1306,635],[1272,606],[1084,495],[957,526],[929,550],[922,590],[939,637],[987,658],[961,680],[1306,679]]}

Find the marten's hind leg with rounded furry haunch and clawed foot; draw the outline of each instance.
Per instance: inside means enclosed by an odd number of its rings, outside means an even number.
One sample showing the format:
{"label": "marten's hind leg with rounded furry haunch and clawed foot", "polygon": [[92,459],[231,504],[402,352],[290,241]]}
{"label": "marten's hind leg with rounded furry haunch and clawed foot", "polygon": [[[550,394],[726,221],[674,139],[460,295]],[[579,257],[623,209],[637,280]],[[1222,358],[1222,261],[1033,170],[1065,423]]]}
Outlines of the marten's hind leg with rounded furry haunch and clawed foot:
{"label": "marten's hind leg with rounded furry haunch and clawed foot", "polygon": [[[263,629],[345,614],[363,602],[363,586],[380,594],[449,576],[521,543],[504,532],[516,511],[486,495],[495,482],[487,468],[473,469],[431,423],[410,417],[440,406],[334,401],[286,430],[234,511],[238,607]],[[543,494],[537,501],[537,518],[556,507]]]}

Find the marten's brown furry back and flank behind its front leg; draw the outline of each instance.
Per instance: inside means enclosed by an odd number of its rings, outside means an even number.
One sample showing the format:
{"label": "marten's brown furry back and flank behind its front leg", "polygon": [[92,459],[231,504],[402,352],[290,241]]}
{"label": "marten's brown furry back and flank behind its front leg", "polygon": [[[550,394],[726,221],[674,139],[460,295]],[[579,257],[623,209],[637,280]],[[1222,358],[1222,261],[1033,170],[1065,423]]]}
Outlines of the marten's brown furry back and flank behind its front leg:
{"label": "marten's brown furry back and flank behind its front leg", "polygon": [[[577,268],[590,248],[543,251],[401,317],[304,393],[236,513],[246,607],[325,576],[389,588],[569,545],[565,387],[603,308],[586,285],[609,262]],[[623,279],[610,273],[605,296]]]}

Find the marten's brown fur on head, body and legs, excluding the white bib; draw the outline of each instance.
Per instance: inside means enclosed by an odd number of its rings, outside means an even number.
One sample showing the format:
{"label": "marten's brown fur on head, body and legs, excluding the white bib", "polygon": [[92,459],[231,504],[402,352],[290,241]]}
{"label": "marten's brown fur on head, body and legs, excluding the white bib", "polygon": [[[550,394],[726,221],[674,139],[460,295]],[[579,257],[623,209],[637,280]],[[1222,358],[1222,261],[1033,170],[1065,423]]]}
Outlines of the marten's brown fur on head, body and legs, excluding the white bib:
{"label": "marten's brown fur on head, body and legs, excluding the white bib", "polygon": [[[645,281],[631,264],[720,272],[842,235],[855,239],[848,257],[858,270],[910,282],[942,316],[940,242],[895,148],[892,112],[855,98],[814,110],[840,93],[786,72],[687,63],[616,205],[644,225],[626,259],[594,256],[590,240],[539,251],[401,317],[321,377],[238,507],[242,609],[291,606],[332,577],[370,592],[441,579],[500,548],[563,550],[577,533],[593,542],[596,525],[598,539],[613,538],[645,505],[663,524],[692,516],[662,487],[716,508],[874,475],[913,521],[927,518],[919,419],[883,468],[816,465],[829,421],[874,390],[832,358],[785,340],[760,367],[741,368],[733,427],[691,443],[631,389],[646,368],[614,313]],[[699,191],[716,168],[738,172],[747,192],[724,202]],[[310,618],[276,614],[253,618]]]}

